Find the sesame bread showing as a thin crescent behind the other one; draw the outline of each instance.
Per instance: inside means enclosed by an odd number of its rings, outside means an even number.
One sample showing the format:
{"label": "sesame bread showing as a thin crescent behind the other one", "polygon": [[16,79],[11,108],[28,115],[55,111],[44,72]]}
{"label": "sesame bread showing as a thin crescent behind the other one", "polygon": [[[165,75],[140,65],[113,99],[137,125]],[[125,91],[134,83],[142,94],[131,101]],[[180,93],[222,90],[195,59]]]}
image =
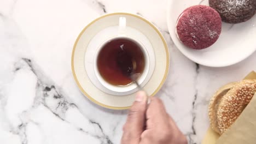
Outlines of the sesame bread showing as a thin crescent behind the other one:
{"label": "sesame bread showing as a thin crescent behind the other one", "polygon": [[208,107],[208,116],[210,118],[210,125],[211,128],[220,134],[218,122],[217,122],[217,110],[220,103],[220,100],[223,98],[223,95],[229,92],[229,90],[234,87],[236,82],[229,83],[228,85],[225,85],[213,95],[213,97],[210,100],[210,104]]}

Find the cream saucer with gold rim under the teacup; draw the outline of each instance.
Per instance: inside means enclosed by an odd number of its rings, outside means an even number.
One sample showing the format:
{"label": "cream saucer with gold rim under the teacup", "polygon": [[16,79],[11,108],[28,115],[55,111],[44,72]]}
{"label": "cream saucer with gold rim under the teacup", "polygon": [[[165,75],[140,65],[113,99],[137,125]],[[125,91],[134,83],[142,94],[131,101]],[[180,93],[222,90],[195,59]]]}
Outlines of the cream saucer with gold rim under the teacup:
{"label": "cream saucer with gold rim under the teacup", "polygon": [[[128,94],[116,94],[104,91],[100,86],[95,85],[95,82],[93,82],[94,78],[91,79],[94,71],[93,67],[88,66],[90,65],[90,61],[86,61],[86,59],[88,57],[92,58],[95,55],[95,51],[90,46],[95,43],[94,39],[98,39],[101,36],[105,37],[106,35],[99,36],[98,34],[106,31],[106,29],[112,29],[117,26],[119,17],[126,17],[126,26],[142,34],[139,36],[142,39],[138,40],[144,46],[148,45],[146,46],[147,51],[151,51],[150,46],[152,47],[153,55],[150,55],[149,52],[149,58],[154,59],[155,65],[154,69],[152,69],[152,76],[149,76],[148,81],[144,83],[143,87],[149,95],[153,96],[159,91],[166,79],[169,67],[169,54],[164,37],[162,37],[161,33],[152,23],[143,17],[129,13],[112,13],[98,17],[89,23],[75,41],[71,59],[72,72],[80,91],[94,103],[108,109],[129,109],[135,100],[137,89]],[[131,31],[128,31],[126,34]],[[113,35],[115,33],[107,37],[112,37]],[[88,52],[91,55],[88,55]]]}

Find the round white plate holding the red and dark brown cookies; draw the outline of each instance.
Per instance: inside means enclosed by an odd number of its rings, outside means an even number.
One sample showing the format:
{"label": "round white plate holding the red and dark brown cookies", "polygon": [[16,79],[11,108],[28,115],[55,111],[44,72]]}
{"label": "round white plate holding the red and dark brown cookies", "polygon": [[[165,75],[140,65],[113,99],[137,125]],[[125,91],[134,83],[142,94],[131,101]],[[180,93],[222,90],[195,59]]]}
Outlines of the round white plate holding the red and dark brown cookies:
{"label": "round white plate holding the red and dark brown cookies", "polygon": [[178,49],[196,63],[208,67],[225,67],[242,61],[256,50],[256,16],[251,20],[229,24],[223,22],[222,33],[215,44],[203,50],[189,49],[176,37],[176,21],[182,11],[192,5],[208,5],[208,0],[169,0],[167,25],[171,38]]}

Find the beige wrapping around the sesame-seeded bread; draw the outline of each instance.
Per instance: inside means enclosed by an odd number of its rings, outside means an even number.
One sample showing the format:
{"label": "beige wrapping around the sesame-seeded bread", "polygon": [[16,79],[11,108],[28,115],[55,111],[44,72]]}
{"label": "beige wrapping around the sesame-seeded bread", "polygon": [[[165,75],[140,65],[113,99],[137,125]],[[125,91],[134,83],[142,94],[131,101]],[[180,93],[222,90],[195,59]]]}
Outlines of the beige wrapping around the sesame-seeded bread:
{"label": "beige wrapping around the sesame-seeded bread", "polygon": [[[245,79],[256,79],[253,71]],[[202,144],[255,144],[256,143],[256,94],[237,118],[234,124],[222,136],[208,129]]]}

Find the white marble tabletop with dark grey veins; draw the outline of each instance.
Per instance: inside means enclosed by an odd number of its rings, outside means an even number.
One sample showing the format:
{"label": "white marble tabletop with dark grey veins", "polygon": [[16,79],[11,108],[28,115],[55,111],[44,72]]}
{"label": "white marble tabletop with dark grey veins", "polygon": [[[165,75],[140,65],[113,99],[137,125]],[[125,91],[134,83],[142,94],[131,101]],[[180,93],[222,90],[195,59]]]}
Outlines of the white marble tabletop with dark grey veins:
{"label": "white marble tabletop with dark grey veins", "polygon": [[142,15],[161,30],[171,59],[167,81],[157,95],[189,143],[200,143],[209,125],[211,95],[256,70],[256,53],[226,68],[191,62],[167,32],[166,5],[167,0],[1,1],[0,143],[120,143],[127,111],[92,104],[71,73],[79,32],[97,16],[115,11]]}

